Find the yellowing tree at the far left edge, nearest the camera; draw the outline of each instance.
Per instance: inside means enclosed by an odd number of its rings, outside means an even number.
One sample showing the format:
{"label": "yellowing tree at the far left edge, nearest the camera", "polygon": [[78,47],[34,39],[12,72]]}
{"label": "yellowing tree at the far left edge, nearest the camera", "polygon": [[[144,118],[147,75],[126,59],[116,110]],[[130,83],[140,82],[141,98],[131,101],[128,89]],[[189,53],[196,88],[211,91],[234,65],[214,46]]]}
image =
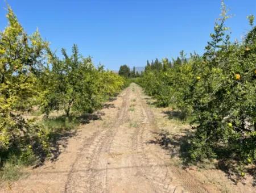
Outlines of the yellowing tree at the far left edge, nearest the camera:
{"label": "yellowing tree at the far left edge, nearest the camera", "polygon": [[40,125],[24,119],[22,111],[30,108],[38,95],[36,73],[41,69],[48,43],[42,41],[38,31],[28,36],[10,7],[7,19],[9,25],[0,33],[1,161],[5,160],[3,152],[16,149],[22,154],[27,152],[27,144],[37,142],[40,146],[45,142],[37,135]]}

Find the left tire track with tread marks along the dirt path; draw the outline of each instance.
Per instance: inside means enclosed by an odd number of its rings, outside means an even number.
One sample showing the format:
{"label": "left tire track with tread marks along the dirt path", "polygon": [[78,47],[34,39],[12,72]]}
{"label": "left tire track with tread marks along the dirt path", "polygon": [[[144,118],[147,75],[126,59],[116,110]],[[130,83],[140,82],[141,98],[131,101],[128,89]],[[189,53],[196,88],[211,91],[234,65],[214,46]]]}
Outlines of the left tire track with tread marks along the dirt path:
{"label": "left tire track with tread marks along the dirt path", "polygon": [[89,142],[90,144],[81,148],[79,155],[73,163],[72,170],[68,174],[65,184],[65,192],[104,192],[106,191],[106,160],[102,158],[104,152],[108,151],[111,141],[115,135],[115,128],[125,120],[127,111],[127,98],[130,89],[125,91],[122,106],[118,112],[115,123],[104,128]]}

